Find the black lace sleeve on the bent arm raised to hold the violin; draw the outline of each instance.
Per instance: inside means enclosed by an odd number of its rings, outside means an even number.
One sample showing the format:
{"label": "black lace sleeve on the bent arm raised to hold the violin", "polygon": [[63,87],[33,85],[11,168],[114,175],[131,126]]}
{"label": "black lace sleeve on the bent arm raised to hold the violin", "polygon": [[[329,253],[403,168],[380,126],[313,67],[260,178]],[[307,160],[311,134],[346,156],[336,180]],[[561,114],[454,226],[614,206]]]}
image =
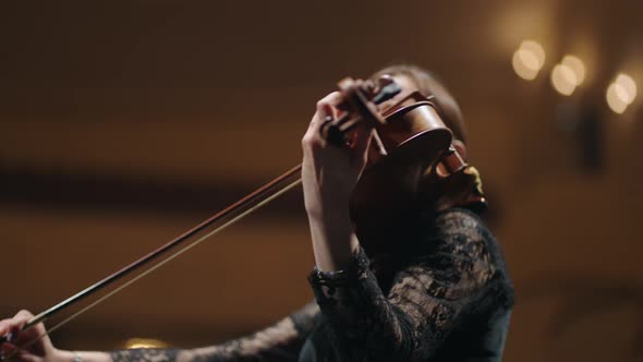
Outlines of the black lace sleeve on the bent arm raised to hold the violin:
{"label": "black lace sleeve on the bent arm raised to hold the violin", "polygon": [[349,361],[415,361],[435,354],[495,273],[478,220],[450,213],[385,295],[360,250],[352,266],[310,277],[335,348]]}

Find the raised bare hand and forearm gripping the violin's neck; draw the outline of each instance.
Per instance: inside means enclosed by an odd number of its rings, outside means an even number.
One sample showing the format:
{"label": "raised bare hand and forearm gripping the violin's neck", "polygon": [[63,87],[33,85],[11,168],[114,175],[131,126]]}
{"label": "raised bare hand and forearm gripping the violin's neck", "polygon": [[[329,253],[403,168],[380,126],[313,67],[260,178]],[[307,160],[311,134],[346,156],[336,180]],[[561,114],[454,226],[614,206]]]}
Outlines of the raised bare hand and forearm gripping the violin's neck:
{"label": "raised bare hand and forearm gripping the violin's neck", "polygon": [[349,200],[364,166],[373,130],[357,128],[350,145],[329,144],[320,135],[328,117],[335,119],[338,92],[317,102],[317,111],[302,138],[304,203],[317,267],[337,270],[345,266],[359,242],[349,217]]}

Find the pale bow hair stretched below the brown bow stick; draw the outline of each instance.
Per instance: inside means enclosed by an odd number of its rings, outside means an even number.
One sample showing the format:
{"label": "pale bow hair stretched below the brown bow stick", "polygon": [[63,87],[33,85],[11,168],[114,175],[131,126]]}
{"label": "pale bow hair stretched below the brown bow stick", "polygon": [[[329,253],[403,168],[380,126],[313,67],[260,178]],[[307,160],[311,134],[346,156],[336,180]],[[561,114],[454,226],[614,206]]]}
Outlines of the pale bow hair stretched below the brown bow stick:
{"label": "pale bow hair stretched below the brown bow stick", "polygon": [[[108,292],[107,294],[100,297],[99,299],[97,299],[96,301],[92,302],[90,304],[84,306],[83,309],[78,310],[77,312],[73,313],[72,315],[70,315],[69,317],[64,318],[63,321],[59,322],[58,324],[53,325],[52,327],[49,327],[48,330],[44,334],[41,334],[40,336],[38,336],[37,338],[35,338],[34,340],[31,340],[28,342],[26,342],[22,349],[26,349],[31,346],[33,346],[34,343],[36,343],[37,341],[39,341],[40,339],[43,339],[45,336],[48,336],[50,333],[57,330],[58,328],[62,327],[63,325],[68,324],[69,322],[75,319],[77,316],[82,315],[83,313],[94,309],[95,306],[97,306],[98,304],[102,303],[104,301],[108,300],[109,298],[111,298],[112,295],[119,293],[121,290],[128,288],[129,286],[133,285],[134,282],[138,281],[139,279],[144,278],[145,276],[147,276],[150,273],[154,273],[156,269],[160,268],[161,266],[166,265],[167,263],[169,263],[170,261],[174,260],[175,257],[179,257],[180,255],[182,255],[183,253],[187,252],[189,250],[195,248],[196,245],[201,244],[203,241],[205,241],[206,239],[213,237],[214,234],[222,231],[223,229],[228,228],[229,226],[231,226],[232,224],[239,221],[240,219],[244,218],[245,216],[252,214],[253,212],[257,210],[258,208],[260,208],[262,206],[268,204],[269,202],[271,202],[272,200],[279,197],[281,194],[290,191],[291,189],[295,188],[296,185],[299,185],[302,182],[302,179],[299,178],[295,181],[291,182],[290,184],[288,184],[287,186],[284,186],[283,189],[270,194],[268,197],[266,197],[265,200],[258,202],[256,205],[254,205],[251,208],[247,208],[245,210],[243,210],[242,213],[238,214],[236,216],[231,217],[228,221],[225,221],[221,226],[213,229],[211,231],[209,231],[208,233],[206,233],[205,236],[198,238],[197,240],[193,241],[192,243],[187,244],[185,248],[179,250],[178,252],[175,252],[174,254],[168,256],[167,258],[160,261],[159,263],[157,263],[156,265],[151,266],[149,269],[141,273],[139,275],[135,276],[134,278],[128,280],[126,282],[124,282],[123,285],[121,285],[120,287],[113,289],[112,291]],[[15,353],[10,354],[8,357],[11,358],[15,355]],[[5,357],[7,358],[7,357]],[[3,359],[0,359],[0,361],[2,361]]]}

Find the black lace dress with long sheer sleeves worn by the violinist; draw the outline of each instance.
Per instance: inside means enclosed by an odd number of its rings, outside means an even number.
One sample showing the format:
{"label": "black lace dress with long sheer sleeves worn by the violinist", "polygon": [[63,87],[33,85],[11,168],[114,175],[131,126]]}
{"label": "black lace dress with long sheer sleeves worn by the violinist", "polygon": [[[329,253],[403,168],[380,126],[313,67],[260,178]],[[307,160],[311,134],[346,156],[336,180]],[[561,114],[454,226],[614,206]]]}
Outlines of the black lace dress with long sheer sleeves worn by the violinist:
{"label": "black lace dress with long sheer sleeves worn by the violinist", "polygon": [[[499,361],[513,288],[477,215],[449,209],[395,258],[362,250],[314,270],[315,302],[252,336],[193,350],[112,351],[114,361]],[[380,267],[378,267],[380,265]]]}

